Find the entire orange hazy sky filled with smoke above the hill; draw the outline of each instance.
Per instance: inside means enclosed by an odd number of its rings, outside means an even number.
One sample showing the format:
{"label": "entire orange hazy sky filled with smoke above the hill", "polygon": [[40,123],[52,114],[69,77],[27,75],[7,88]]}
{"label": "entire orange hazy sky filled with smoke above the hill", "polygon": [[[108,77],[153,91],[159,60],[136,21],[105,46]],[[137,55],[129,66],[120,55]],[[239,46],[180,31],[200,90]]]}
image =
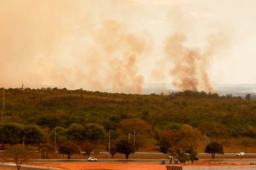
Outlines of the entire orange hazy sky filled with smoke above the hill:
{"label": "entire orange hazy sky filled with smoke above the hill", "polygon": [[0,87],[256,83],[255,0],[0,0]]}

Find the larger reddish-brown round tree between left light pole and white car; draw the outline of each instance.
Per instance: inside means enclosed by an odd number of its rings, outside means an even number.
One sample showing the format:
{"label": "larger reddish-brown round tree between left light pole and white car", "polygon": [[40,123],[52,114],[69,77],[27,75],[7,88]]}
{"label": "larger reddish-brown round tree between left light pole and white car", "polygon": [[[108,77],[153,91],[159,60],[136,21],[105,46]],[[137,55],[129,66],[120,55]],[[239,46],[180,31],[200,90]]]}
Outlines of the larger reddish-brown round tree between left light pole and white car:
{"label": "larger reddish-brown round tree between left light pole and white car", "polygon": [[71,155],[80,153],[80,151],[77,144],[72,141],[67,141],[59,146],[59,153],[66,154],[67,159],[70,159]]}

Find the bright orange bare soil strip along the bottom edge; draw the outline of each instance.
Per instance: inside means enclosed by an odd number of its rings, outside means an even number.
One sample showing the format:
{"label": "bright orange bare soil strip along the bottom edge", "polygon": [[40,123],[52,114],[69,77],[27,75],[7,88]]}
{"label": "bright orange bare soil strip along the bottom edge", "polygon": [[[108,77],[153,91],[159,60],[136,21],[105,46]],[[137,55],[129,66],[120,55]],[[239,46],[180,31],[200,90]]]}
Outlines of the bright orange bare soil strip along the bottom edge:
{"label": "bright orange bare soil strip along the bottom edge", "polygon": [[[214,166],[214,165],[248,165],[249,163],[190,163],[179,164],[181,166]],[[164,170],[166,165],[160,163],[37,163],[43,167],[59,167],[71,170]],[[169,165],[169,164],[167,164]],[[173,165],[173,164],[172,164]]]}

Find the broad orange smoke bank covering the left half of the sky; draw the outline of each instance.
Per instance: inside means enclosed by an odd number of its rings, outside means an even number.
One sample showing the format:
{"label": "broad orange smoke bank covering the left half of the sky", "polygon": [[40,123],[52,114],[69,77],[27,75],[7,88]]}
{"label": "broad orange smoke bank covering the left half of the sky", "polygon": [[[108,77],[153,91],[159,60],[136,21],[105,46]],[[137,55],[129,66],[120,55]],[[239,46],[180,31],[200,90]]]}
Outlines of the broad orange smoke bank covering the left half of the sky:
{"label": "broad orange smoke bank covering the left half of the sky", "polygon": [[1,1],[1,86],[24,83],[142,93],[137,60],[146,53],[148,38],[127,28],[132,24],[123,21],[122,10],[136,12],[129,5]]}

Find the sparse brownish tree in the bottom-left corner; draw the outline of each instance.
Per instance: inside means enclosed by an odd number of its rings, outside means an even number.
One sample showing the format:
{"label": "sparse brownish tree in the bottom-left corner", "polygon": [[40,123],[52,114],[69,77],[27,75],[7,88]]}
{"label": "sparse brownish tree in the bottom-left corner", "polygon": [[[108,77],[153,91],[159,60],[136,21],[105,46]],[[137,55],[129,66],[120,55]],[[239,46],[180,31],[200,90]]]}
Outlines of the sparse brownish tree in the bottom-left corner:
{"label": "sparse brownish tree in the bottom-left corner", "polygon": [[24,146],[22,144],[15,144],[7,149],[5,152],[5,159],[6,162],[9,162],[9,159],[15,163],[18,170],[22,164],[29,161],[29,159],[34,158],[34,148],[32,146]]}

